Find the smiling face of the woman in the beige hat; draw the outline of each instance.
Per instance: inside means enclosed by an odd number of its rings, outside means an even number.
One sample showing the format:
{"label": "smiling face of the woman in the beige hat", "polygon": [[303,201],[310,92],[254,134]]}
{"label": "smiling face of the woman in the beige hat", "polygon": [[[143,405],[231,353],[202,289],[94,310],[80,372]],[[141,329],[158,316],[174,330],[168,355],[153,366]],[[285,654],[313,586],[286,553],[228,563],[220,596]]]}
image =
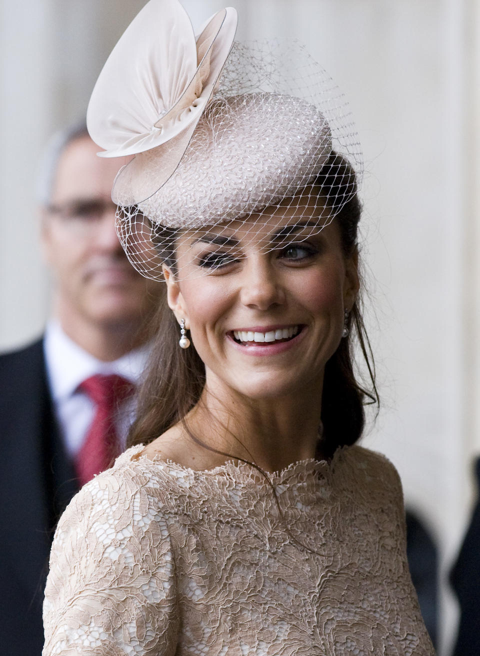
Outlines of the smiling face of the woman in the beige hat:
{"label": "smiling face of the woman in the beige hat", "polygon": [[282,209],[184,234],[180,281],[166,271],[169,305],[217,394],[224,386],[252,399],[321,390],[359,283],[335,220],[316,228],[314,214]]}

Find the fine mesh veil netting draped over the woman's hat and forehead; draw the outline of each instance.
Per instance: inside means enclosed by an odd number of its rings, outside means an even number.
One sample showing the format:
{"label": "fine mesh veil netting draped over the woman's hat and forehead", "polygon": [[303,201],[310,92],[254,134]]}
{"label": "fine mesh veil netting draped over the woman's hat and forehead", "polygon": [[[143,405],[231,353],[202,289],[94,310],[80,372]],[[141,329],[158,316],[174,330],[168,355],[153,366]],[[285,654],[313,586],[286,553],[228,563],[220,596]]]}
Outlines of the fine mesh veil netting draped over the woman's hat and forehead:
{"label": "fine mesh veil netting draped over the woman's hat and forehead", "polygon": [[[162,161],[146,155],[150,185]],[[117,228],[144,276],[163,278],[163,264],[199,276],[252,248],[285,248],[293,233],[297,246],[308,240],[361,174],[346,100],[304,47],[235,44],[176,171],[138,205],[119,206]]]}

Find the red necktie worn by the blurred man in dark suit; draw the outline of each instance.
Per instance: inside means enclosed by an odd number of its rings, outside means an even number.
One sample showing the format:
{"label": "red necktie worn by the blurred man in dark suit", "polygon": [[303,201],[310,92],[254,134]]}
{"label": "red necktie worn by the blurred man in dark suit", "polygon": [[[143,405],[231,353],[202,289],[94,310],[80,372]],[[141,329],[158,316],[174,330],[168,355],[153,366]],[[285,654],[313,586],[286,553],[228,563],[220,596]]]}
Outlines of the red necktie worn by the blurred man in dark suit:
{"label": "red necktie worn by the blurred man in dark suit", "polygon": [[96,374],[81,382],[78,389],[85,392],[96,407],[83,446],[75,458],[77,478],[85,485],[95,474],[107,469],[119,454],[115,416],[122,401],[133,393],[134,386],[115,374]]}

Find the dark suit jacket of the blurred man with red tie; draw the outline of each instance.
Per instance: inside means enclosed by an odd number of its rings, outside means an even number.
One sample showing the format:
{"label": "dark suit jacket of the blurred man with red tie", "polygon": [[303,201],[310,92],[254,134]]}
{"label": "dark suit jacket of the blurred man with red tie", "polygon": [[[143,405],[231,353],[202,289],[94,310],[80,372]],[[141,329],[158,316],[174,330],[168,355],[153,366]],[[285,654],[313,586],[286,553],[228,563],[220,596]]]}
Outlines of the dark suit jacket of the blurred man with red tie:
{"label": "dark suit jacket of the blurred man with red tie", "polygon": [[52,534],[77,491],[56,426],[43,340],[0,356],[0,653],[40,656]]}

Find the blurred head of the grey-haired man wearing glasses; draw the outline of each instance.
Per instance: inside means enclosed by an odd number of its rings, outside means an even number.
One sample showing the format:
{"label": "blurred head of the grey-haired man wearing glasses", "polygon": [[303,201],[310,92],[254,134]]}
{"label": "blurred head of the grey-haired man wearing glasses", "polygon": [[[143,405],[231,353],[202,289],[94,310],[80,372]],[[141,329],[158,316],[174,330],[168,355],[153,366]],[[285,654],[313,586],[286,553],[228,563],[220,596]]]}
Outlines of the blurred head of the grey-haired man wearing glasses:
{"label": "blurred head of the grey-haired man wearing glasses", "polygon": [[121,329],[140,321],[155,298],[115,232],[111,186],[129,158],[106,159],[96,152],[94,142],[82,136],[60,156],[50,207],[43,213],[42,241],[60,319]]}

